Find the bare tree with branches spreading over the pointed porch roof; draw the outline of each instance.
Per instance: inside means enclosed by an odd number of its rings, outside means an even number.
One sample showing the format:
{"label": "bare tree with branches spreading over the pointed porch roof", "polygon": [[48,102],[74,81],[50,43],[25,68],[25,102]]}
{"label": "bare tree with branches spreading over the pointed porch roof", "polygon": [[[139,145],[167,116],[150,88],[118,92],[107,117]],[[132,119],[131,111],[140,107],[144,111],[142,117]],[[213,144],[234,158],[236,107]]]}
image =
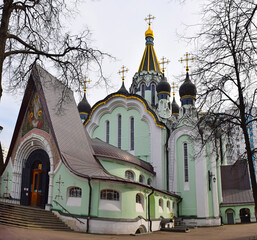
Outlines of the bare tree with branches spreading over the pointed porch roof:
{"label": "bare tree with branches spreading over the pointed porch roof", "polygon": [[20,87],[35,62],[52,63],[67,86],[78,87],[91,63],[104,79],[101,61],[108,54],[88,45],[89,31],[75,36],[63,33],[61,20],[70,12],[65,0],[4,0],[0,4],[0,99],[3,76],[8,77],[9,87]]}

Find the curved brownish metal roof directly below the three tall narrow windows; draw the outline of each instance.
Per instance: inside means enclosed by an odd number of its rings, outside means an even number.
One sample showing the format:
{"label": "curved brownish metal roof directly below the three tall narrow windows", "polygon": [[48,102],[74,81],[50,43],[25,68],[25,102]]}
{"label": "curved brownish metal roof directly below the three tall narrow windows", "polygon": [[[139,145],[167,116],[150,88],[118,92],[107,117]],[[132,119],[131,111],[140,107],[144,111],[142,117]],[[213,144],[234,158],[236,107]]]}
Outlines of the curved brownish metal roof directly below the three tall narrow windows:
{"label": "curved brownish metal roof directly below the three tall narrow windows", "polygon": [[150,163],[140,160],[132,154],[110,145],[99,138],[92,139],[92,147],[96,157],[135,164],[151,173],[154,173],[153,167]]}

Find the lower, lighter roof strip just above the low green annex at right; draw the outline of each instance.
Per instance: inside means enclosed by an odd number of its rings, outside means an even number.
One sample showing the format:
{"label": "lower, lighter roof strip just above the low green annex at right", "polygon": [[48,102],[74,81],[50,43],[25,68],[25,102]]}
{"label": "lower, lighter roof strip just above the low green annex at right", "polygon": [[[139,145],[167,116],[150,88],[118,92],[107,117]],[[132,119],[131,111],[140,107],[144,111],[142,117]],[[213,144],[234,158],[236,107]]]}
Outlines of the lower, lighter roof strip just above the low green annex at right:
{"label": "lower, lighter roof strip just above the low green annex at right", "polygon": [[250,189],[228,189],[222,192],[223,202],[221,206],[254,204],[253,193]]}

